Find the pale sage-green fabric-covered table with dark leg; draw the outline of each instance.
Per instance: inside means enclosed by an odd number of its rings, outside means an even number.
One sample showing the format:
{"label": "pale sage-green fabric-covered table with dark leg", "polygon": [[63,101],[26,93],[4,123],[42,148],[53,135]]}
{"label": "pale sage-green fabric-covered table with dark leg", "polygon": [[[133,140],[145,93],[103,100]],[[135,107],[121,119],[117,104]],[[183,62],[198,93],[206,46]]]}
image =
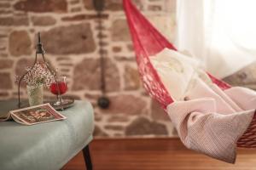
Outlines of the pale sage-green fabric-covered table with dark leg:
{"label": "pale sage-green fabric-covered table with dark leg", "polygon": [[[16,104],[0,101],[0,111],[13,110]],[[0,169],[60,169],[80,150],[87,169],[92,169],[88,147],[94,130],[92,106],[76,100],[73,107],[60,112],[66,120],[32,126],[0,122]]]}

